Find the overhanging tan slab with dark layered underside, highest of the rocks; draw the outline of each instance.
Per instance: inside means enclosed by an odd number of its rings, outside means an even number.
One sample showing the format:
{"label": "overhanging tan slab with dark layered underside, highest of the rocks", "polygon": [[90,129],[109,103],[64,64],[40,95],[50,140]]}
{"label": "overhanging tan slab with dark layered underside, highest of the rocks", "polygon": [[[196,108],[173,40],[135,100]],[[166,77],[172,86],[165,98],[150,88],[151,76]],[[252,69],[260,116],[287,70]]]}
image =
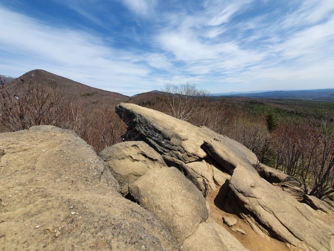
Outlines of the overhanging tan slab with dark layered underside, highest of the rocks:
{"label": "overhanging tan slab with dark layered underside, highest of the rocks", "polygon": [[222,147],[226,142],[239,146],[251,164],[256,165],[257,159],[252,151],[207,128],[200,128],[164,113],[129,103],[116,106],[116,113],[128,125],[127,138],[131,138],[133,134],[142,137],[160,154],[169,155],[184,163],[207,157],[207,152],[201,148],[204,140],[216,138]]}

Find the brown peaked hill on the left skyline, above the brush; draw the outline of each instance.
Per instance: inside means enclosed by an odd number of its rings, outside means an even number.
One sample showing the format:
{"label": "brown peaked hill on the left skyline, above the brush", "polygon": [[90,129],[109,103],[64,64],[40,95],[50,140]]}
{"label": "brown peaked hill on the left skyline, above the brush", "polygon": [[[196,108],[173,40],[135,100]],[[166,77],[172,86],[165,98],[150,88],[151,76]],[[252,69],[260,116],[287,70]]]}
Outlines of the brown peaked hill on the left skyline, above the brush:
{"label": "brown peaked hill on the left skyline, above the brush", "polygon": [[116,105],[129,99],[123,94],[81,84],[41,69],[29,71],[9,83],[6,82],[6,85],[7,88],[14,88],[17,85],[27,86],[31,80],[45,84],[55,83],[71,95],[73,102],[80,102],[86,106],[92,106],[92,104]]}

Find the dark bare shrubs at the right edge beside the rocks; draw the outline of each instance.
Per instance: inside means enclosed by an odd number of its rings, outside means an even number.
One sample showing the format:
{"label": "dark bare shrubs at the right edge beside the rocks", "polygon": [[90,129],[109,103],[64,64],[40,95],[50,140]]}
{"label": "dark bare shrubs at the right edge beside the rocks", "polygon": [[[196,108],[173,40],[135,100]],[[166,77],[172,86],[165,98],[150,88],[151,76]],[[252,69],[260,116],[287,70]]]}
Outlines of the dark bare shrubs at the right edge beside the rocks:
{"label": "dark bare shrubs at the right edge beside the rocks", "polygon": [[304,192],[325,199],[334,195],[334,123],[325,116],[322,123],[280,125],[274,134],[276,167],[295,176]]}

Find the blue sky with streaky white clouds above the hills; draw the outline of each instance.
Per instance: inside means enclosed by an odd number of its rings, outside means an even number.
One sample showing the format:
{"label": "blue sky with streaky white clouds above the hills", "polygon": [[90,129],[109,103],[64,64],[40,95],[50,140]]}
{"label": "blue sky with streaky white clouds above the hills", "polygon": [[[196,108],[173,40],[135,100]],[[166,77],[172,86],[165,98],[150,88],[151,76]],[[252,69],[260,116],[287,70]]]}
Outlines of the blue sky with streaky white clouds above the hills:
{"label": "blue sky with streaky white clouds above the hills", "polygon": [[0,74],[126,95],[334,88],[334,0],[0,0]]}

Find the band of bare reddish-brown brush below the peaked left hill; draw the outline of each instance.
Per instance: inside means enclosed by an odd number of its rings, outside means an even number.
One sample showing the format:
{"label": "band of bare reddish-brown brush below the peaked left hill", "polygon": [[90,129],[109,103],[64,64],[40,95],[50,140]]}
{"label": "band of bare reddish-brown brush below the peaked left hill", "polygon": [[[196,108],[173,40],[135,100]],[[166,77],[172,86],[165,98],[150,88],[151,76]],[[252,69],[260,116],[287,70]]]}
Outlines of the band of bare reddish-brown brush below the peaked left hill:
{"label": "band of bare reddish-brown brush below the peaked left hill", "polygon": [[89,109],[54,82],[0,87],[0,133],[53,125],[73,130],[98,153],[122,141],[125,123],[106,105]]}

